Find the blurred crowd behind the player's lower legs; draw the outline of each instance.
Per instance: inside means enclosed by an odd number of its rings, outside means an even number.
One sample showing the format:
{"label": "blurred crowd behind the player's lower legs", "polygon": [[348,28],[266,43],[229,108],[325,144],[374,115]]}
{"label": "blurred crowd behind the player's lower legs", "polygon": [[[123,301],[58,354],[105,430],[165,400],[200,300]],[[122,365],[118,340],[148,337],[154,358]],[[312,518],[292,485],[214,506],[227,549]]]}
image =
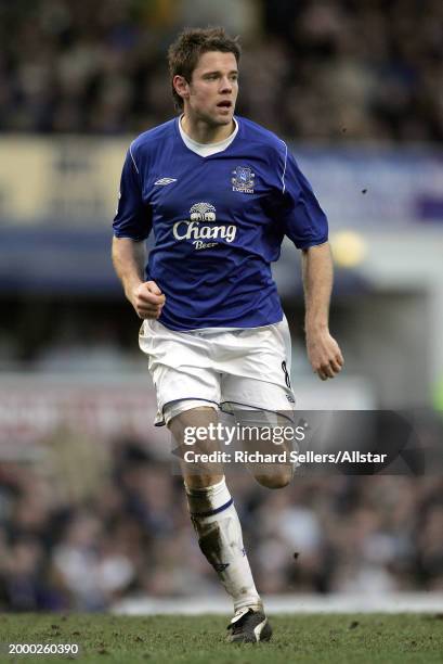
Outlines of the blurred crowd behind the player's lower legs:
{"label": "blurred crowd behind the player's lower legs", "polygon": [[[70,473],[0,464],[0,610],[222,593],[169,465],[133,439],[95,463],[86,454]],[[298,477],[270,491],[245,471],[229,485],[263,592],[443,590],[442,477]]]}

